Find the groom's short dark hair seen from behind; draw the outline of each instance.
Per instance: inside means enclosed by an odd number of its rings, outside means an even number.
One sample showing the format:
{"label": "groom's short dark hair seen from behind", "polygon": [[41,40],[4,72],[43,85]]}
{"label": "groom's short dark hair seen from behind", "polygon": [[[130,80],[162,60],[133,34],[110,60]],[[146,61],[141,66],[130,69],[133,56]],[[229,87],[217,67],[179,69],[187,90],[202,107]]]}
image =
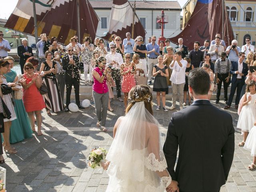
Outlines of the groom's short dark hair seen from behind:
{"label": "groom's short dark hair seen from behind", "polygon": [[207,95],[210,89],[210,76],[202,68],[195,68],[189,72],[188,85],[197,95]]}

